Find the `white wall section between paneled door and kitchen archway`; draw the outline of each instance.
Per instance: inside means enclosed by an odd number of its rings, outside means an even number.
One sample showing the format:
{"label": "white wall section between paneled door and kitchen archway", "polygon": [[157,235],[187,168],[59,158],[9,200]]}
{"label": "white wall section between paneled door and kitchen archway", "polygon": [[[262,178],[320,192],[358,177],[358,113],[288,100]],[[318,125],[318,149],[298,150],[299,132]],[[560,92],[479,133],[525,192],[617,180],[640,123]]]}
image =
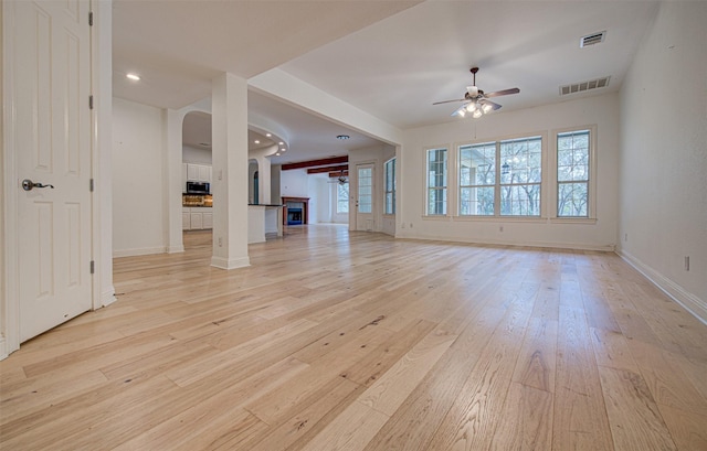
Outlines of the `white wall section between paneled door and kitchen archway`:
{"label": "white wall section between paneled door and kitchen archway", "polygon": [[113,99],[113,255],[166,251],[163,110]]}

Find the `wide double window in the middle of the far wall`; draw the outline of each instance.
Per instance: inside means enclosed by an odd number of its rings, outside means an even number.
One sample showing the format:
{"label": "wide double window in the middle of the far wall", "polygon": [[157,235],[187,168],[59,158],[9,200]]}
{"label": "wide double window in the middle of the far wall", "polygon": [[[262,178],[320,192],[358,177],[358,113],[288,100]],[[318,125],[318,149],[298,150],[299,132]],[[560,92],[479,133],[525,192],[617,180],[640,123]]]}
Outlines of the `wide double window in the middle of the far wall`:
{"label": "wide double window in the middle of the far wall", "polygon": [[540,216],[542,138],[461,146],[460,215]]}

